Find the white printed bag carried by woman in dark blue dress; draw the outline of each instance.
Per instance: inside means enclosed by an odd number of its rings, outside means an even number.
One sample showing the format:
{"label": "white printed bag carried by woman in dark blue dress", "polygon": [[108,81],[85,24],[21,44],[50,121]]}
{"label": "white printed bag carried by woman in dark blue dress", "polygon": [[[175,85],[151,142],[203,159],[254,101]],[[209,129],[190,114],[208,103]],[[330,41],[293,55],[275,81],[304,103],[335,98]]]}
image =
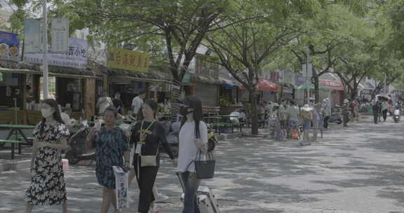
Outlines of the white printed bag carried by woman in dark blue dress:
{"label": "white printed bag carried by woman in dark blue dress", "polygon": [[128,172],[122,170],[119,166],[112,166],[115,175],[116,209],[129,207],[129,187]]}

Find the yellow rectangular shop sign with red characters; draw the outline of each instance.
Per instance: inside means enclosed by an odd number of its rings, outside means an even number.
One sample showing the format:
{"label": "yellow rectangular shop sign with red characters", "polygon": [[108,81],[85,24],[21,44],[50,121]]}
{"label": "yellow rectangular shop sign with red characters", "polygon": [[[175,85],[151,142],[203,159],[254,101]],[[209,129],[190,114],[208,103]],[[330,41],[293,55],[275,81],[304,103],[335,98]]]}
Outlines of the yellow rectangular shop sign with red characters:
{"label": "yellow rectangular shop sign with red characters", "polygon": [[149,54],[109,47],[107,50],[107,67],[148,72]]}

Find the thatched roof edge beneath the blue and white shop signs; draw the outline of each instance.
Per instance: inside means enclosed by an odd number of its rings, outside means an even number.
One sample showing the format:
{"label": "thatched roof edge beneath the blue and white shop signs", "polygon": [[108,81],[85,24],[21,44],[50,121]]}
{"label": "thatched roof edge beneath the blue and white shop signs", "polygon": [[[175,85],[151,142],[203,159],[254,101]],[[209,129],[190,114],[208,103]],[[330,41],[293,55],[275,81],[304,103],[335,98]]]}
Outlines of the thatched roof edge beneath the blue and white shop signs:
{"label": "thatched roof edge beneath the blue and white shop signs", "polygon": [[[0,60],[0,67],[5,69],[21,69],[31,71],[33,73],[41,74],[41,64],[32,64],[27,62],[15,62],[8,60]],[[73,74],[73,75],[86,75],[93,76],[94,73],[90,69],[77,69],[73,67],[58,67],[49,66],[48,71],[53,74]]]}

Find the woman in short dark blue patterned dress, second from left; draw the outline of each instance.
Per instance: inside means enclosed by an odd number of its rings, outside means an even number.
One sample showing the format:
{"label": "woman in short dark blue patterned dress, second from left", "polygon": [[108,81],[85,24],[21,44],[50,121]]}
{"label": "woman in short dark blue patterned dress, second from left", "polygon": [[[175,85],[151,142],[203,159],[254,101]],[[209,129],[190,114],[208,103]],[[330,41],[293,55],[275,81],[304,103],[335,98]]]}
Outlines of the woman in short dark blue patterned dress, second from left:
{"label": "woman in short dark blue patterned dress, second from left", "polygon": [[[129,142],[125,132],[116,126],[118,111],[115,107],[105,109],[105,126],[90,130],[87,147],[95,146],[95,174],[102,186],[101,213],[107,213],[110,205],[116,209],[115,176],[112,166],[129,167]],[[125,161],[123,160],[125,159]]]}

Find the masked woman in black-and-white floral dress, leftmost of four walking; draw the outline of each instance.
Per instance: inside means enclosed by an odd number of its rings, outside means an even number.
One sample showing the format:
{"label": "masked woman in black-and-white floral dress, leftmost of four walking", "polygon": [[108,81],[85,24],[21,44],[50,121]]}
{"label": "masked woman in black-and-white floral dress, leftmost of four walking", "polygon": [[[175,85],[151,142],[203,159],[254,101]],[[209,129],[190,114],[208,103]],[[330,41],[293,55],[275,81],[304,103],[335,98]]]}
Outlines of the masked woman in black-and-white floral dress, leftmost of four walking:
{"label": "masked woman in black-and-white floral dress, leftmost of four walking", "polygon": [[31,185],[25,191],[26,212],[34,205],[60,205],[67,213],[65,175],[61,151],[67,149],[69,130],[60,117],[58,102],[45,99],[41,104],[42,121],[34,128],[31,160]]}

